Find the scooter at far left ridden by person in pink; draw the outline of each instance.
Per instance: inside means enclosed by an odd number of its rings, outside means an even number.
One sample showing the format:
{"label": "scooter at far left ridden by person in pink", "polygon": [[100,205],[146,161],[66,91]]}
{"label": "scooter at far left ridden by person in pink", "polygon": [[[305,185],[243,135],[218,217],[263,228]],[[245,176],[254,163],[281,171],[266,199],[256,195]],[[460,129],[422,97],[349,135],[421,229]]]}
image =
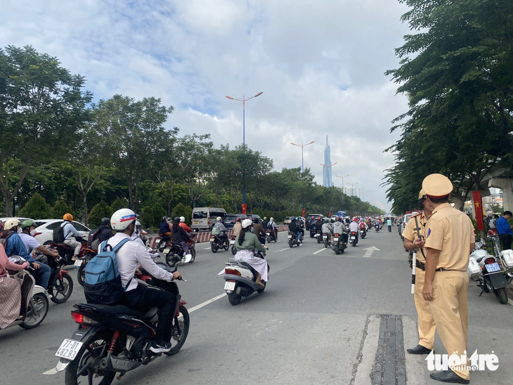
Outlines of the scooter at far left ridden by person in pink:
{"label": "scooter at far left ridden by person in pink", "polygon": [[[25,263],[25,259],[21,256],[11,256],[9,261],[22,265]],[[7,273],[11,278],[18,280],[21,288],[21,308],[20,317],[17,320],[11,322],[4,329],[12,326],[19,325],[23,329],[33,329],[41,325],[41,322],[46,318],[48,314],[48,298],[44,287],[36,285],[36,280],[28,271],[34,270],[34,268],[27,266],[25,270],[14,271],[7,269]]]}

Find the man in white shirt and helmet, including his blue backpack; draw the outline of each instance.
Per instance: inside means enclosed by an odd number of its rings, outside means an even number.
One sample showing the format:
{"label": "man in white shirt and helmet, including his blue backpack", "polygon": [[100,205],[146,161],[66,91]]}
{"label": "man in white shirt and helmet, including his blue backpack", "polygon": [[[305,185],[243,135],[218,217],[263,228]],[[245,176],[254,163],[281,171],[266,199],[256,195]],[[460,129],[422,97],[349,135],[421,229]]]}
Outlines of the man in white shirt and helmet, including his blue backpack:
{"label": "man in white shirt and helmet, including his blue backpack", "polygon": [[[171,292],[139,285],[133,278],[139,265],[158,280],[170,282],[180,278],[181,274],[178,271],[171,274],[158,267],[148,250],[130,239],[136,232],[134,211],[117,210],[110,218],[110,225],[116,234],[100,244],[98,255],[86,265],[84,283],[86,299],[89,303],[96,304],[123,304],[141,312],[157,306],[159,323],[150,350],[153,353],[167,353],[171,350],[169,341],[176,296]],[[112,261],[112,258],[115,261]],[[105,272],[107,274],[101,275]]]}

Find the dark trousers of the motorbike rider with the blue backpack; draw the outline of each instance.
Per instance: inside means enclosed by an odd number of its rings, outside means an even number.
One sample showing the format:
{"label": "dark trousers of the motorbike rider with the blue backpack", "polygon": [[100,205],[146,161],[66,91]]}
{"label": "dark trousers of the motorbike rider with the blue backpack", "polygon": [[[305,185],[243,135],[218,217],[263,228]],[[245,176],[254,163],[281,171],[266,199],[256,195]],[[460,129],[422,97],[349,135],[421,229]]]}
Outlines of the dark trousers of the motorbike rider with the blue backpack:
{"label": "dark trousers of the motorbike rider with the blue backpack", "polygon": [[159,308],[159,323],[155,342],[160,344],[163,341],[169,342],[171,340],[171,322],[176,304],[176,296],[173,293],[138,285],[137,289],[123,294],[121,304],[143,312],[157,306]]}

